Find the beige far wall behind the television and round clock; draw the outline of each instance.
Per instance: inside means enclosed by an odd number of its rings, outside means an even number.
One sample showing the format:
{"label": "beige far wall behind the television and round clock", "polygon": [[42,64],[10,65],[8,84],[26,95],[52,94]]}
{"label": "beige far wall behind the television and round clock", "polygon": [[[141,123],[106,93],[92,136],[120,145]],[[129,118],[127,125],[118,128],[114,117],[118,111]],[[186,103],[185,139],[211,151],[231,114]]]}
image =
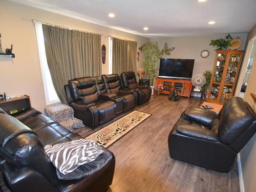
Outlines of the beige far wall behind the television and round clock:
{"label": "beige far wall behind the television and round clock", "polygon": [[[239,50],[244,50],[246,42],[246,33],[231,34],[232,37],[241,37],[243,45]],[[203,35],[203,36],[182,36],[182,37],[160,37],[151,38],[151,41],[158,41],[160,49],[163,49],[165,42],[168,47],[175,47],[168,58],[195,59],[193,75],[202,74],[205,70],[211,70],[214,65],[215,49],[209,46],[211,39],[223,38],[225,35]],[[201,57],[201,51],[210,52],[207,58]]]}

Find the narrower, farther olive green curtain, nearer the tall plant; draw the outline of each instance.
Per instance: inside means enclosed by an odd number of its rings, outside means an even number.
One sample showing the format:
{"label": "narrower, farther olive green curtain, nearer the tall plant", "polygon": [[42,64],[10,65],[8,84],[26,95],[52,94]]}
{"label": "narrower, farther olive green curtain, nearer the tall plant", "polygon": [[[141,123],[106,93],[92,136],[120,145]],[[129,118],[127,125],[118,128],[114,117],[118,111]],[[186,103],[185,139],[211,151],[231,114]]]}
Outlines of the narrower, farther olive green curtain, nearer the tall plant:
{"label": "narrower, farther olive green curtain, nearer the tall plant", "polygon": [[112,73],[136,71],[137,42],[113,37]]}

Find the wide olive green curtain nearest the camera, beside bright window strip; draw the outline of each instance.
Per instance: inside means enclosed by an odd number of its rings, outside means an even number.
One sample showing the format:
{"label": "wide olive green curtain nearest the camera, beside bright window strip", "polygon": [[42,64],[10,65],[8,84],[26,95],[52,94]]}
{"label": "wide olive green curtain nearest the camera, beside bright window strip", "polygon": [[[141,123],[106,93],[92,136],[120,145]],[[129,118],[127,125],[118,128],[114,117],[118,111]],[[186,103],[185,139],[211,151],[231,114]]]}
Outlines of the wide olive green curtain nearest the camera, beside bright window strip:
{"label": "wide olive green curtain nearest the camera, beside bright window strip", "polygon": [[68,80],[101,75],[101,35],[44,24],[42,30],[53,86],[60,101],[67,103]]}

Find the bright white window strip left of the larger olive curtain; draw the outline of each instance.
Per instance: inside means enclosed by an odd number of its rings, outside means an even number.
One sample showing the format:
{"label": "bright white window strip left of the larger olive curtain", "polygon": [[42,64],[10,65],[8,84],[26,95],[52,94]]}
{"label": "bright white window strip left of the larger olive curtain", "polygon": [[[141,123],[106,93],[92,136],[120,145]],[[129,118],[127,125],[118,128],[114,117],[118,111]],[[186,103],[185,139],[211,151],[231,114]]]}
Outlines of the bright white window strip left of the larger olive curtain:
{"label": "bright white window strip left of the larger olive curtain", "polygon": [[37,46],[39,52],[39,60],[42,73],[42,82],[44,83],[44,90],[46,96],[46,104],[53,104],[60,102],[56,91],[53,87],[52,77],[48,68],[46,50],[45,50],[45,40],[44,34],[42,33],[42,24],[35,23]]}

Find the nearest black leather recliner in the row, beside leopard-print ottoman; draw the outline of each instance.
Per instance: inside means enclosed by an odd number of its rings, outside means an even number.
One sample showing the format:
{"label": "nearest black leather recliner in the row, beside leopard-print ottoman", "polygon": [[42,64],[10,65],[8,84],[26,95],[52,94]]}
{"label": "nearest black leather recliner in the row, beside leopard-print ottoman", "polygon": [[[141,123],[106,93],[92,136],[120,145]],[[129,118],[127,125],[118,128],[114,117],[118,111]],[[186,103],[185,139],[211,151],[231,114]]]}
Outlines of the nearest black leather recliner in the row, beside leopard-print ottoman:
{"label": "nearest black leather recliner in the row, beside leopard-print ottoman", "polygon": [[74,109],[74,116],[91,128],[113,119],[117,113],[122,112],[122,106],[111,100],[116,95],[106,94],[101,77],[69,80],[65,91],[68,104]]}

